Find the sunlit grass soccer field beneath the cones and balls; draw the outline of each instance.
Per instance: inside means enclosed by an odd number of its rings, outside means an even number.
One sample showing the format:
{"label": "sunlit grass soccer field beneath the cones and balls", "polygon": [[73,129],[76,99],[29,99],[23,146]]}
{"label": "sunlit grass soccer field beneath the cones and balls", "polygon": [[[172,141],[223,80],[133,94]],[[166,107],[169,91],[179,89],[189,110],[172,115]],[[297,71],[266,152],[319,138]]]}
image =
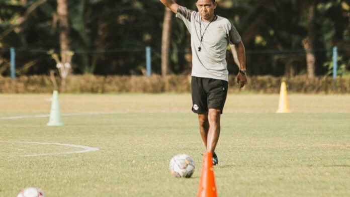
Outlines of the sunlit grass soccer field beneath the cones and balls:
{"label": "sunlit grass soccer field beneath the cones and balls", "polygon": [[[46,126],[50,96],[0,94],[0,196],[196,196],[205,149],[190,94],[60,94],[62,127]],[[350,95],[289,101],[293,113],[275,114],[277,94],[228,95],[219,196],[350,196]],[[171,176],[178,153],[195,160],[192,178]]]}

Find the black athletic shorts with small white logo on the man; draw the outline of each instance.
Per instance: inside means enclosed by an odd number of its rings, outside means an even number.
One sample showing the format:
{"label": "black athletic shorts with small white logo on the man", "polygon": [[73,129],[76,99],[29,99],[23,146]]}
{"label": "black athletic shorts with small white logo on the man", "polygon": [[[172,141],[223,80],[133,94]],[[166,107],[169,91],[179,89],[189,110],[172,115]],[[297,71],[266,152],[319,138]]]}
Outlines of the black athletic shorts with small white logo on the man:
{"label": "black athletic shorts with small white logo on the man", "polygon": [[192,111],[205,114],[208,109],[224,109],[227,96],[228,82],[220,79],[192,76]]}

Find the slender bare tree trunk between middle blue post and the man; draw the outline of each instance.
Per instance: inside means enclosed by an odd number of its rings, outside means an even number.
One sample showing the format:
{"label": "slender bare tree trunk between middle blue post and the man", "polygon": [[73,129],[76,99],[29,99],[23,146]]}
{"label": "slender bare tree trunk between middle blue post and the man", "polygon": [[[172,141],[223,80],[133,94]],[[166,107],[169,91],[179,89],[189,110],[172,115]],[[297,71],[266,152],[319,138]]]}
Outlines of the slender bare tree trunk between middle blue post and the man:
{"label": "slender bare tree trunk between middle blue post and the man", "polygon": [[169,72],[169,48],[171,35],[171,16],[170,9],[165,8],[163,20],[163,32],[161,38],[161,75],[164,77]]}

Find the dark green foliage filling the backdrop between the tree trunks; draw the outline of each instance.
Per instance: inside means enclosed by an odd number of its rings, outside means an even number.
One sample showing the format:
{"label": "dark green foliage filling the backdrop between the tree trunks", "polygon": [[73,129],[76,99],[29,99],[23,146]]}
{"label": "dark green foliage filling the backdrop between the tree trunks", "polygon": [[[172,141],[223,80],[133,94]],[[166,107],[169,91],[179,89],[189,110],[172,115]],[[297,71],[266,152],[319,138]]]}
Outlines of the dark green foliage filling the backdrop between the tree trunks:
{"label": "dark green foliage filling the backdrop between the tree trunks", "polygon": [[[27,2],[27,3],[25,3]],[[56,2],[47,1],[33,10],[27,20],[21,18],[38,0],[0,2],[0,71],[9,75],[9,54],[17,50],[17,68],[26,67],[21,75],[48,74],[55,62],[47,55],[49,49],[59,49],[55,22]],[[152,47],[152,71],[160,73],[161,25],[164,7],[159,1],[67,1],[69,9],[70,44],[75,55],[73,72],[91,74],[142,74],[145,67],[145,47]],[[308,6],[301,0],[236,0],[218,1],[216,14],[229,19],[240,32],[247,54],[247,69],[251,75],[285,74],[288,61],[298,62],[295,73],[306,67],[302,40],[307,36]],[[316,72],[327,74],[323,65],[331,60],[335,41],[350,41],[349,1],[316,2],[315,55]],[[196,10],[195,0],[179,0],[178,4]],[[11,31],[10,31],[11,30]],[[171,72],[188,73],[185,58],[190,52],[190,36],[185,25],[173,17],[171,35]],[[340,48],[340,46],[339,46]],[[349,47],[343,47],[348,52]],[[266,52],[269,51],[269,52]],[[276,59],[281,54],[284,60]],[[295,55],[297,54],[297,55]],[[288,56],[289,55],[289,56]],[[344,73],[349,71],[349,54],[342,54]],[[34,64],[33,64],[34,62]],[[237,72],[230,53],[227,62],[231,73]],[[32,66],[28,67],[31,64]],[[6,68],[5,68],[6,67]]]}

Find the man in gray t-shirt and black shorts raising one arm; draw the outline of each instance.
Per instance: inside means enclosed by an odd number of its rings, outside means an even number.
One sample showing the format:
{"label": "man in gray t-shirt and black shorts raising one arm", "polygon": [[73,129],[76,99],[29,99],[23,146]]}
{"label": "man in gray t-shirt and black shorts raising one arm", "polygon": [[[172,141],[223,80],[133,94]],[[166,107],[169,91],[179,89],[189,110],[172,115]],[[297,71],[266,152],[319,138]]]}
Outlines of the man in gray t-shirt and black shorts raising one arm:
{"label": "man in gray t-shirt and black shorts raising one arm", "polygon": [[197,0],[198,12],[179,6],[173,0],[160,2],[183,20],[191,33],[192,111],[198,114],[202,140],[207,151],[213,154],[216,165],[219,160],[214,150],[228,87],[226,48],[230,45],[234,58],[238,56],[237,84],[243,87],[247,82],[244,45],[233,24],[214,14],[215,0]]}

